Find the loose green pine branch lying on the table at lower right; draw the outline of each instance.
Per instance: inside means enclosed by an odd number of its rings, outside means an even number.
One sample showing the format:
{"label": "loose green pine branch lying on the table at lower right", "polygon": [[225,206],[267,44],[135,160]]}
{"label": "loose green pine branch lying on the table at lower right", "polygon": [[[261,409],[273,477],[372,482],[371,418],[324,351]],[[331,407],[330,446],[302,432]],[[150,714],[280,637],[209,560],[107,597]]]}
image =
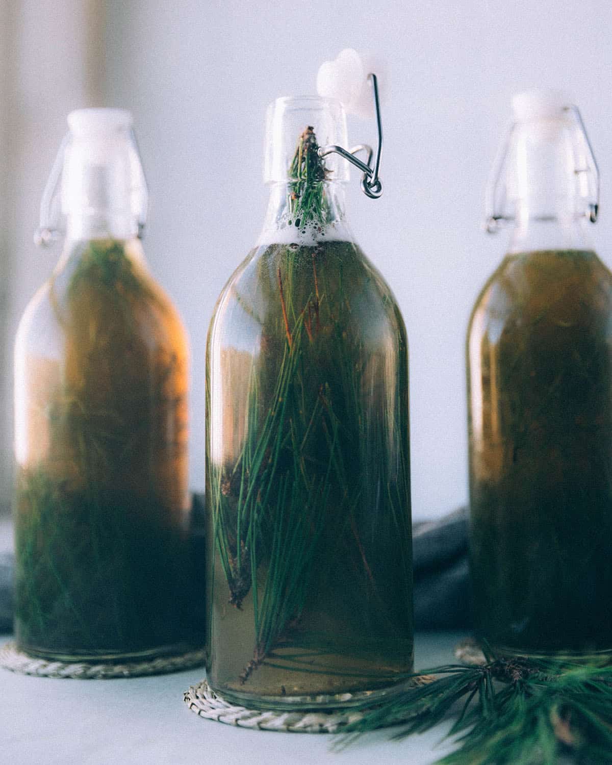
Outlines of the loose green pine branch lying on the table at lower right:
{"label": "loose green pine branch lying on the table at lower right", "polygon": [[376,706],[343,729],[340,746],[360,734],[400,724],[393,737],[422,733],[457,714],[448,733],[457,750],[439,765],[581,765],[612,763],[612,666],[608,659],[503,659],[450,664]]}

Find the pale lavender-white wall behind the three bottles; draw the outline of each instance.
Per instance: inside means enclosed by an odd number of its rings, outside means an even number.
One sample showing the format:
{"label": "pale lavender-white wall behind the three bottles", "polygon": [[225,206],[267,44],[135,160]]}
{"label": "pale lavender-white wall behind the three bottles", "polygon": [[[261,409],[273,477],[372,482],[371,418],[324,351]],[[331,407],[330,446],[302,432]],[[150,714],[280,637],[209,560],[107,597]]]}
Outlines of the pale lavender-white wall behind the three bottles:
{"label": "pale lavender-white wall behind the three bottles", "polygon": [[[106,10],[106,31],[98,17],[99,49],[92,42],[94,54],[104,53],[103,60],[98,54],[93,59],[93,72],[106,83],[103,105],[135,113],[152,193],[145,249],[190,331],[191,474],[197,488],[203,486],[206,332],[216,296],[262,223],[265,106],[276,96],[314,93],[319,63],[343,47],[387,57],[385,193],[367,200],[354,174],[347,210],[356,238],[392,285],[409,330],[415,518],[464,503],[464,333],[477,291],[503,255],[504,237],[487,238],[480,223],[484,187],[514,91],[562,87],[581,107],[603,177],[601,223],[592,227],[592,236],[612,265],[612,3],[112,0],[89,5]],[[50,48],[70,51],[70,28],[52,24],[39,34]],[[45,93],[63,93],[66,78],[74,77],[68,54],[63,56],[52,76],[28,74],[47,77]],[[30,61],[41,63],[34,51]],[[95,92],[83,93],[83,103]],[[73,107],[76,100],[47,99],[44,112],[29,116],[44,132],[45,156],[39,152],[28,180],[38,190],[60,142],[67,102]],[[353,119],[349,128],[350,142],[375,141],[373,125]],[[13,203],[29,236],[37,198]],[[41,282],[55,259],[37,255],[29,244],[25,249],[28,285],[23,278],[15,281],[12,323],[31,283]]]}

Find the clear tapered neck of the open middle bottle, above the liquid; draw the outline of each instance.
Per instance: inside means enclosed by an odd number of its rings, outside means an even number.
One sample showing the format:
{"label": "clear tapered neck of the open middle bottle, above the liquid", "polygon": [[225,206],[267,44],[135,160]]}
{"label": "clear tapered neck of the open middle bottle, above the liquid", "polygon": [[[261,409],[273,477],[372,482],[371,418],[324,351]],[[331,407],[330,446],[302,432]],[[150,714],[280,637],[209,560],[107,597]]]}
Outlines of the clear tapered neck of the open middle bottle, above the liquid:
{"label": "clear tapered neck of the open middle bottle, above the liquid", "polygon": [[344,213],[344,196],[344,184],[339,181],[271,184],[259,244],[350,241],[353,236]]}

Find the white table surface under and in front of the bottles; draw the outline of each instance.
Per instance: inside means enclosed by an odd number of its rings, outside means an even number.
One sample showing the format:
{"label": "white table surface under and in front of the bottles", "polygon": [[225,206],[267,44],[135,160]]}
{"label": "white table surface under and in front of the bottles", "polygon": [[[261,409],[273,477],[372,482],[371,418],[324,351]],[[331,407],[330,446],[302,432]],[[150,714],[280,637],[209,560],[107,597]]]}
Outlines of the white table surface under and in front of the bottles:
{"label": "white table surface under and in front of the bottles", "polygon": [[[417,669],[452,660],[460,633],[420,633]],[[0,643],[9,636],[0,636]],[[405,741],[366,734],[340,752],[328,734],[249,731],[203,720],[183,692],[202,669],[112,680],[56,680],[0,669],[0,763],[27,765],[431,765],[452,749],[450,724]]]}

